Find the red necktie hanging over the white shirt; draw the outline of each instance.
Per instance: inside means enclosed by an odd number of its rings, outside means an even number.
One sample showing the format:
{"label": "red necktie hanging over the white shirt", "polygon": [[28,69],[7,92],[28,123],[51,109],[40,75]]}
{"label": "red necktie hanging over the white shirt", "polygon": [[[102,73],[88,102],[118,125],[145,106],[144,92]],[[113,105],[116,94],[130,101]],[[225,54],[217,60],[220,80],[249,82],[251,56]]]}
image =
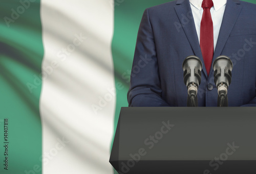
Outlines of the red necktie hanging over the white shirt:
{"label": "red necktie hanging over the white shirt", "polygon": [[214,25],[212,24],[210,8],[214,6],[212,0],[203,0],[204,9],[200,27],[200,47],[207,74],[210,73],[212,57],[214,56]]}

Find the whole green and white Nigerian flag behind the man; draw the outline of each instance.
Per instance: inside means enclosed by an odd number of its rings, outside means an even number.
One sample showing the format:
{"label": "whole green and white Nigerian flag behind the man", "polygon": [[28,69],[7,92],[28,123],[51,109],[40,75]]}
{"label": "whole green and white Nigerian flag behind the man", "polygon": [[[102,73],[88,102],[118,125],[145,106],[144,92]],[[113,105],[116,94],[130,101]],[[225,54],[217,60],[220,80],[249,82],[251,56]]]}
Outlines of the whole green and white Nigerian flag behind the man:
{"label": "whole green and white Nigerian flag behind the man", "polygon": [[166,2],[1,0],[0,173],[114,173],[140,19]]}

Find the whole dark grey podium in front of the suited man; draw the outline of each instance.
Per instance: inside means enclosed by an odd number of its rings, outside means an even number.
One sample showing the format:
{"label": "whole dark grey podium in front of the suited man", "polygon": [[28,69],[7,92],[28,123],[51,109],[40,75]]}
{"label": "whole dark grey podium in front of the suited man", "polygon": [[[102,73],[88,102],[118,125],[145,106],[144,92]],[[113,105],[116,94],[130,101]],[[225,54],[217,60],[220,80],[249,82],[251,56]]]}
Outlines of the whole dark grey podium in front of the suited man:
{"label": "whole dark grey podium in front of the suited man", "polygon": [[122,107],[118,173],[256,173],[256,107]]}

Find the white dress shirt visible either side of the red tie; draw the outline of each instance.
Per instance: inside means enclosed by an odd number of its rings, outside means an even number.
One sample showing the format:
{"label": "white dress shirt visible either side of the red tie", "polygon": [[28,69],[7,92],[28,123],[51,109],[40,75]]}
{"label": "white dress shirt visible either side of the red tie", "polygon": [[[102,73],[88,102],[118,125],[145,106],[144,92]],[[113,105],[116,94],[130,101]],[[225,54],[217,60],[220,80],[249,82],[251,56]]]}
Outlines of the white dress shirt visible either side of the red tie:
{"label": "white dress shirt visible either side of the red tie", "polygon": [[[203,0],[189,0],[193,17],[195,20],[197,35],[200,43],[200,25],[203,16],[202,3]],[[214,24],[214,50],[216,48],[218,36],[220,33],[221,23],[227,4],[227,0],[212,0],[214,6],[210,9],[212,23]]]}

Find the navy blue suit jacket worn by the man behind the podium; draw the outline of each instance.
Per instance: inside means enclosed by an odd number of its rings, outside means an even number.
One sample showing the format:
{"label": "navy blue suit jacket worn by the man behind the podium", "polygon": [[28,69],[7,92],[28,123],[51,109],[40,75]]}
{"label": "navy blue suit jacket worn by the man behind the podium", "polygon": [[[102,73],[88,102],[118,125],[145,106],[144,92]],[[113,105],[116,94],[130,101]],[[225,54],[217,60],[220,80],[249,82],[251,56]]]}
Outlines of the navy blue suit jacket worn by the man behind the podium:
{"label": "navy blue suit jacket worn by the man behind the podium", "polygon": [[[188,0],[165,3],[144,11],[137,38],[127,94],[129,106],[186,106],[182,62],[203,57]],[[233,62],[229,106],[256,106],[256,5],[227,0],[214,58]],[[204,65],[204,63],[203,63]],[[199,106],[217,106],[214,71],[202,70]]]}

